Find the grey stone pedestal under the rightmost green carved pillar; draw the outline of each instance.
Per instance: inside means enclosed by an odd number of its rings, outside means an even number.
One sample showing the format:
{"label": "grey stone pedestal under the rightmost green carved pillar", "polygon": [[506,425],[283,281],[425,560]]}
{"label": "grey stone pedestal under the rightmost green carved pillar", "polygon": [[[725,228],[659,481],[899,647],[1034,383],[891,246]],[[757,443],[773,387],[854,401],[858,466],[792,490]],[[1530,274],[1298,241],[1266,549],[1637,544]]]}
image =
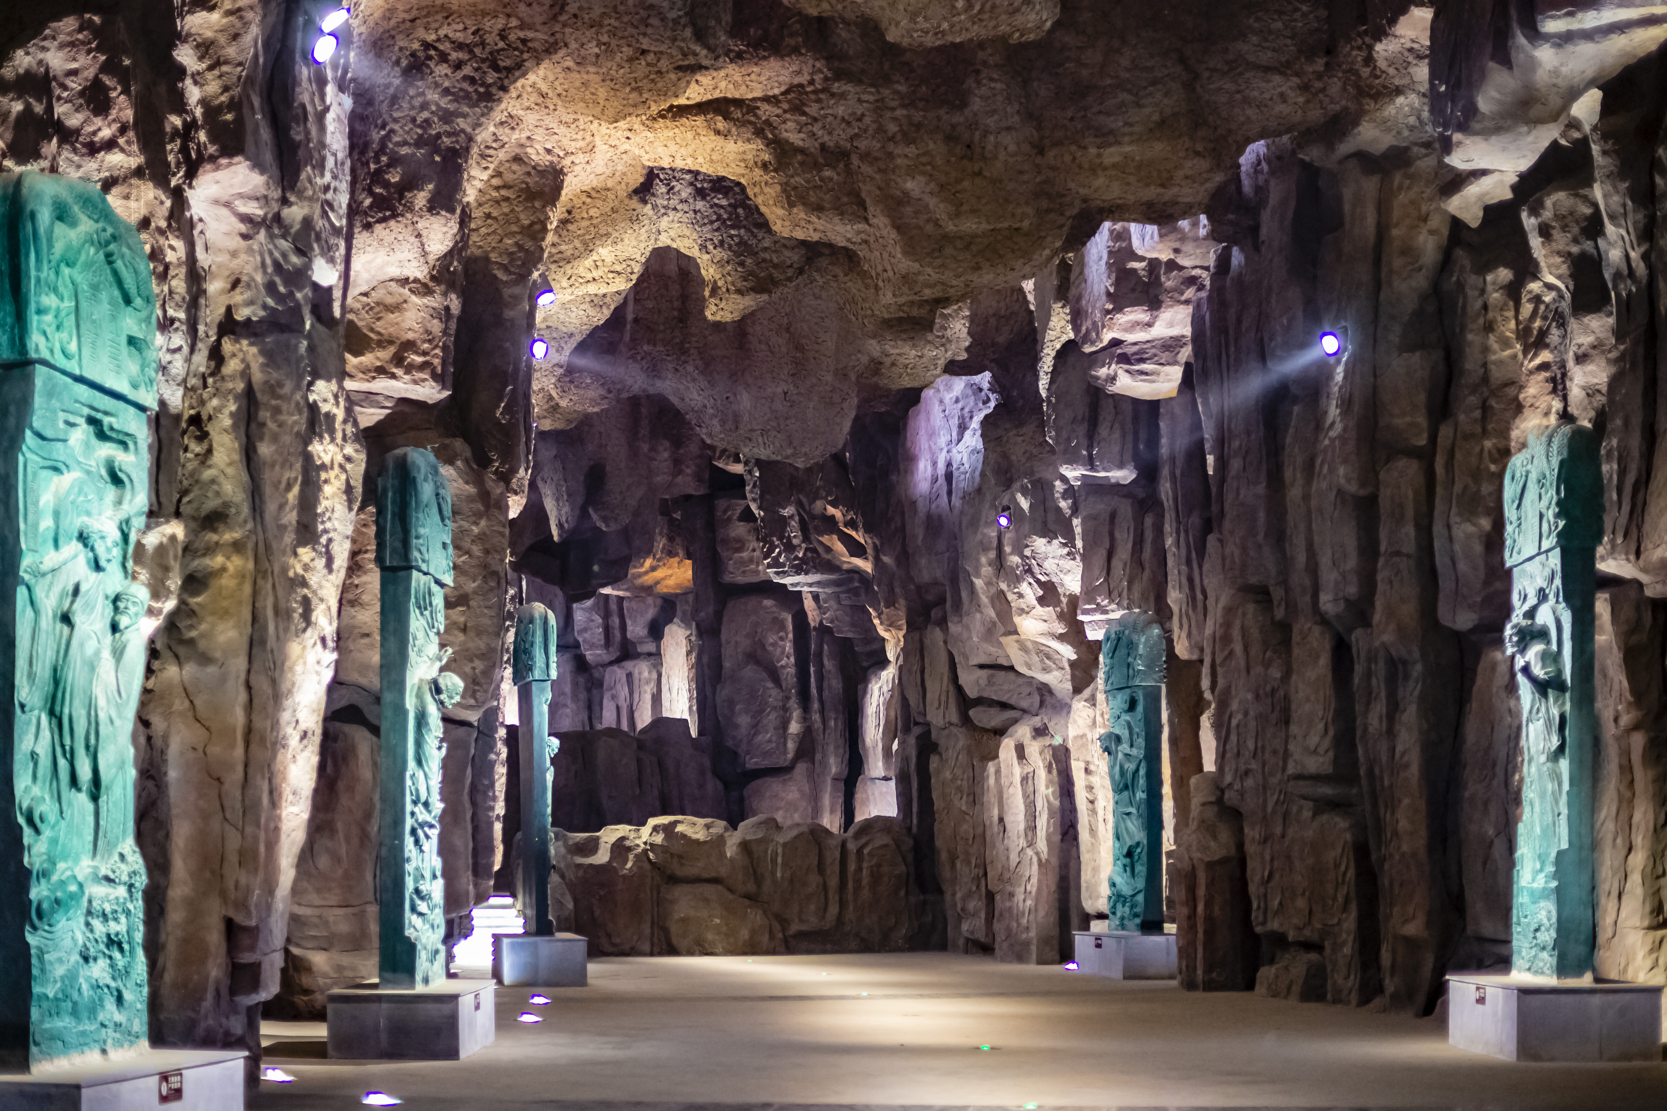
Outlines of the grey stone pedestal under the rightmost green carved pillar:
{"label": "grey stone pedestal under the rightmost green carved pillar", "polygon": [[1447,1043],[1507,1061],[1660,1061],[1662,989],[1449,976]]}

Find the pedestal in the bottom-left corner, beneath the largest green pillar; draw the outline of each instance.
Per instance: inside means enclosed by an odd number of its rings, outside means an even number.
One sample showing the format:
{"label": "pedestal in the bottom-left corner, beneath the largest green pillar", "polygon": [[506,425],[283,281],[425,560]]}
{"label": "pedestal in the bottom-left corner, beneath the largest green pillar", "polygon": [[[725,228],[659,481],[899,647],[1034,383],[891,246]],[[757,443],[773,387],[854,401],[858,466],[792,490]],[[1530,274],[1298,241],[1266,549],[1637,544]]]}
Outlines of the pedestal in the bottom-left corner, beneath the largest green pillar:
{"label": "pedestal in the bottom-left corner, beneath the largest green pillar", "polygon": [[0,1074],[0,1108],[18,1111],[243,1111],[237,1049],[150,1049],[122,1061]]}

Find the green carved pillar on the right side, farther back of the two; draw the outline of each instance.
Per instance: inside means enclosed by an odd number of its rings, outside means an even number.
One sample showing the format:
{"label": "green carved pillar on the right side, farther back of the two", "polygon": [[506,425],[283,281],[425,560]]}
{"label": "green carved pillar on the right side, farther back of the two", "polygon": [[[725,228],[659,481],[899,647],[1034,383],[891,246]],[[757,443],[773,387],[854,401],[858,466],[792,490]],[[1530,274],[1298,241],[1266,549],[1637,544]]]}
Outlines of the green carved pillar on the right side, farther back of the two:
{"label": "green carved pillar on the right side, farther back of the two", "polygon": [[1122,613],[1100,641],[1112,771],[1110,929],[1164,929],[1164,630]]}

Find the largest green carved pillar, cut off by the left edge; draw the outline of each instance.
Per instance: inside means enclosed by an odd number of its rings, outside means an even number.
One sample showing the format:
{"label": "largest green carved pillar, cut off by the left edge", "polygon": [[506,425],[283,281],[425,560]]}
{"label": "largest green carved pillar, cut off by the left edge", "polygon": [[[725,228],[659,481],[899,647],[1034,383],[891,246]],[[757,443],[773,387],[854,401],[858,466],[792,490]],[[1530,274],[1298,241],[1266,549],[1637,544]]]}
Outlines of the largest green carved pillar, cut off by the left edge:
{"label": "largest green carved pillar, cut off by the left edge", "polygon": [[0,1059],[147,1044],[132,551],[157,400],[150,265],[92,185],[0,175]]}

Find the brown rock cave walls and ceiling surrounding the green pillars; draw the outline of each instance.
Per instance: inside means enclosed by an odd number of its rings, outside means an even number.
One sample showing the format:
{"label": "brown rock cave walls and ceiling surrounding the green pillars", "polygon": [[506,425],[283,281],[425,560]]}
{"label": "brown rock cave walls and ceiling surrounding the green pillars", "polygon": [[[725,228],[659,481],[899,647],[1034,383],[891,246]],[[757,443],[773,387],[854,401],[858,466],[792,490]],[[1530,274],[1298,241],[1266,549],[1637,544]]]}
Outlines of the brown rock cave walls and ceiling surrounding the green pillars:
{"label": "brown rock cave walls and ceiling surrounding the green pillars", "polygon": [[97,182],[157,281],[158,1043],[375,966],[407,445],[457,513],[453,933],[542,601],[598,953],[1057,961],[1137,608],[1184,983],[1425,1013],[1509,956],[1500,478],[1589,423],[1599,971],[1667,978],[1654,5],[365,0],[313,65],[325,7],[0,15],[0,163]]}

